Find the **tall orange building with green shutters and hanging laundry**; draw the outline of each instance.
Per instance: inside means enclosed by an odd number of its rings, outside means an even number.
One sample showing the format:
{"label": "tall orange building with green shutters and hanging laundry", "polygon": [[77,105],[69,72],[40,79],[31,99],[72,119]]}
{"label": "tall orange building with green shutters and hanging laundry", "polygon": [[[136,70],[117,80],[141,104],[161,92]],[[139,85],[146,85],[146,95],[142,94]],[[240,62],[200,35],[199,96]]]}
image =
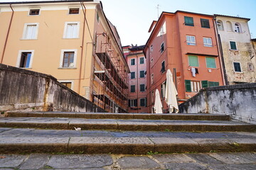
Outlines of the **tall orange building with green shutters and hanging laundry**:
{"label": "tall orange building with green shutters and hanging laundry", "polygon": [[144,54],[147,69],[147,98],[152,112],[154,94],[159,89],[164,102],[166,70],[174,74],[178,102],[182,103],[208,86],[223,85],[223,71],[213,16],[176,11],[163,12],[149,28],[151,35]]}

